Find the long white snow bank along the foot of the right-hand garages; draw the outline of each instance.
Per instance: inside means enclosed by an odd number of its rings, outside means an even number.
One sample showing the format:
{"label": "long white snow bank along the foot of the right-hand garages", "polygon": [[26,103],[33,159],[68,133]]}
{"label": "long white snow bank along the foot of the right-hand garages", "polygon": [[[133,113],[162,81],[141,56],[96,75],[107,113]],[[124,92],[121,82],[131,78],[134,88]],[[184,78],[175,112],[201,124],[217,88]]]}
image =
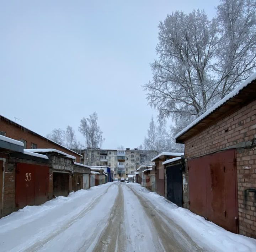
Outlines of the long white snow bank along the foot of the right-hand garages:
{"label": "long white snow bank along the foot of the right-hand garages", "polygon": [[141,185],[132,184],[133,188],[150,201],[159,212],[163,212],[180,225],[187,234],[203,247],[210,247],[213,251],[243,251],[255,252],[256,240],[231,233],[220,226],[205,220],[190,210],[178,207],[155,192],[150,192]]}

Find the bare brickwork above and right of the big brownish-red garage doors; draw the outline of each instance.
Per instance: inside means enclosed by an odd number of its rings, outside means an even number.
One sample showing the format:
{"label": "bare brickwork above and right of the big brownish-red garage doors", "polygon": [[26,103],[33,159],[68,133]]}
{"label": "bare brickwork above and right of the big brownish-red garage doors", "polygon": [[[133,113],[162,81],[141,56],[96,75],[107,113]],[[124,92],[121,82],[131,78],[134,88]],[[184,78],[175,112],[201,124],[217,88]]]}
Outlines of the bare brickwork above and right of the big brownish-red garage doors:
{"label": "bare brickwork above and right of the big brownish-red garage doors", "polygon": [[[236,147],[256,138],[256,100],[185,141],[185,158]],[[256,238],[256,148],[237,148],[239,232]],[[245,196],[246,195],[246,196]]]}

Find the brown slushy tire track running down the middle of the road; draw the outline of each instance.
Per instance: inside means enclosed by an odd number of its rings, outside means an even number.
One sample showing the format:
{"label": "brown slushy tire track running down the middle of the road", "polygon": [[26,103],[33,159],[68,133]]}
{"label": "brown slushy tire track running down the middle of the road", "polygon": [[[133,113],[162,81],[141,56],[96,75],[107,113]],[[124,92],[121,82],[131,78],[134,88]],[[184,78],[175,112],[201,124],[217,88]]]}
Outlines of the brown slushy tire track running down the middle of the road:
{"label": "brown slushy tire track running down the middle of the road", "polygon": [[124,228],[124,196],[121,185],[118,185],[118,195],[111,209],[108,225],[102,231],[94,252],[126,251],[126,232]]}

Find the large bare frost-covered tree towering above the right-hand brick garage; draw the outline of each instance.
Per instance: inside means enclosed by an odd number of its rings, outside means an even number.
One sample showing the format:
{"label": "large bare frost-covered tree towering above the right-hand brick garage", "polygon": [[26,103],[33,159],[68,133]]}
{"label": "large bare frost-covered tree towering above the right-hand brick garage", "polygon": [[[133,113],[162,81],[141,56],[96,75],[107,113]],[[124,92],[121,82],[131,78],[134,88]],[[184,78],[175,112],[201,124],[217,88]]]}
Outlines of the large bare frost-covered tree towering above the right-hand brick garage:
{"label": "large bare frost-covered tree towering above the right-hand brick garage", "polygon": [[144,86],[159,119],[186,126],[255,70],[255,8],[255,0],[222,0],[212,20],[197,10],[160,22],[159,57]]}

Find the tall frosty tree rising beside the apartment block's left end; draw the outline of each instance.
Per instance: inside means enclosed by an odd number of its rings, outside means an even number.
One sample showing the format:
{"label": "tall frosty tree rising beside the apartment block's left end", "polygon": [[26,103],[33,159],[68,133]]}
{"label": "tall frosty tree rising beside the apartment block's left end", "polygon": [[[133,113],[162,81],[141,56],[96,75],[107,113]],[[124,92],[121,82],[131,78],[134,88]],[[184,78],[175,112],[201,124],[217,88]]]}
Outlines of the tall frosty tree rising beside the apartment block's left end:
{"label": "tall frosty tree rising beside the apartment block's left end", "polygon": [[103,132],[98,126],[97,113],[89,115],[87,118],[82,118],[80,121],[79,132],[85,137],[86,148],[101,147],[103,142]]}

